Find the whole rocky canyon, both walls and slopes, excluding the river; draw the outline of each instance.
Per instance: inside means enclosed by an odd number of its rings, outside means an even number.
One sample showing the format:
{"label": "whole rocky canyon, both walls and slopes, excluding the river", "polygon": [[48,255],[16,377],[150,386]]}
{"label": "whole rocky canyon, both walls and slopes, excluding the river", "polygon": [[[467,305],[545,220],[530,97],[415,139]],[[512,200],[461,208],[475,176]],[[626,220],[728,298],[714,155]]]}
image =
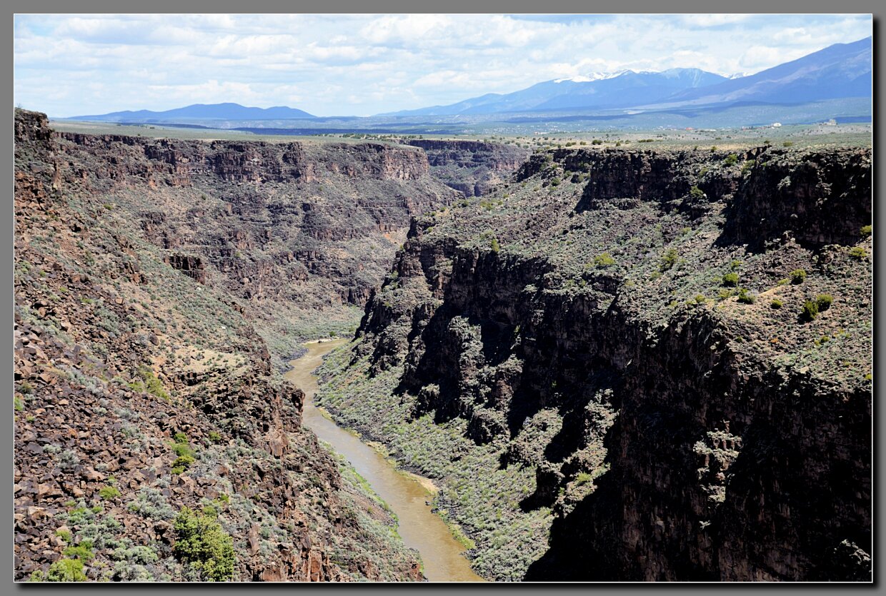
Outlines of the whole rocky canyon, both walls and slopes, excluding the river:
{"label": "whole rocky canyon, both walls and slopes, excluding the river", "polygon": [[870,579],[868,147],[15,134],[19,579],[422,579],[330,335],[482,577]]}

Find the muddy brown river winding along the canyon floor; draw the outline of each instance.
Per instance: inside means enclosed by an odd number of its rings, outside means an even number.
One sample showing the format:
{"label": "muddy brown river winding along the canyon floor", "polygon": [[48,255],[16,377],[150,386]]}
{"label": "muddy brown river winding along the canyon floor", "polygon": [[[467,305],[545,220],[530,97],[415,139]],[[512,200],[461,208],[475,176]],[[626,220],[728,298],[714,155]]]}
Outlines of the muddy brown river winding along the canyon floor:
{"label": "muddy brown river winding along the canyon floor", "polygon": [[462,555],[464,546],[453,538],[447,524],[439,515],[431,513],[431,506],[426,504],[432,497],[431,482],[401,472],[359,437],[325,417],[314,405],[317,391],[314,370],[323,362],[324,354],[346,341],[339,339],[305,344],[307,354],[290,362],[292,369],[286,373],[286,378],[305,392],[305,426],[344,455],[373,490],[391,506],[400,520],[397,528],[400,537],[406,546],[415,548],[421,555],[424,575],[429,581],[484,581],[470,569],[468,560]]}

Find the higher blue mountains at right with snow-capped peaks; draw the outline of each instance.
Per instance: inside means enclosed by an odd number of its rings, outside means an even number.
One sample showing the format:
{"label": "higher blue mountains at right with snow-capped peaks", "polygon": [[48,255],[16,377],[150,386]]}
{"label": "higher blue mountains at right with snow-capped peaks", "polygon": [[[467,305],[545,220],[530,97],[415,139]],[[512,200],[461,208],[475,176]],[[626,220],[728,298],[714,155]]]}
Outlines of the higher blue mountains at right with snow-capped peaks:
{"label": "higher blue mountains at right with snow-capped peaks", "polygon": [[697,68],[661,73],[621,71],[557,79],[501,95],[456,104],[380,114],[443,116],[506,112],[619,110],[728,104],[801,104],[841,97],[871,97],[872,39],[835,43],[803,58],[749,76],[727,78]]}

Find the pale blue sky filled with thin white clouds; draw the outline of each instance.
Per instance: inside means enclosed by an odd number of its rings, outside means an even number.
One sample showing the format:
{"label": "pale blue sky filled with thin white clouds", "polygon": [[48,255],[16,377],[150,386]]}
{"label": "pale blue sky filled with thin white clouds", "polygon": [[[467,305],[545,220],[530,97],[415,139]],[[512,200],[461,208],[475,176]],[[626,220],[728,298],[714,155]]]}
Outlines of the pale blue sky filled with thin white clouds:
{"label": "pale blue sky filled with thin white clouds", "polygon": [[871,35],[870,15],[27,15],[15,102],[368,116],[622,69],[754,74]]}

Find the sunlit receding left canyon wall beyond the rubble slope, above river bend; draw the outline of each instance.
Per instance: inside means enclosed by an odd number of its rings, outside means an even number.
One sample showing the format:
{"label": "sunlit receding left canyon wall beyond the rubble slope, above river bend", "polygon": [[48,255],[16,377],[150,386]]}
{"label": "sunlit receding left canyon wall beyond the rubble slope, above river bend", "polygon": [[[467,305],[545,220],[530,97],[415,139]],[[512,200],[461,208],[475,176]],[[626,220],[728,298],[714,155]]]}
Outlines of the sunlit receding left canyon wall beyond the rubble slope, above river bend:
{"label": "sunlit receding left canyon wall beyond the rubble slope, above river bend", "polygon": [[460,196],[405,146],[53,138],[71,188],[124,210],[173,267],[243,306],[275,358],[354,325],[409,218]]}

